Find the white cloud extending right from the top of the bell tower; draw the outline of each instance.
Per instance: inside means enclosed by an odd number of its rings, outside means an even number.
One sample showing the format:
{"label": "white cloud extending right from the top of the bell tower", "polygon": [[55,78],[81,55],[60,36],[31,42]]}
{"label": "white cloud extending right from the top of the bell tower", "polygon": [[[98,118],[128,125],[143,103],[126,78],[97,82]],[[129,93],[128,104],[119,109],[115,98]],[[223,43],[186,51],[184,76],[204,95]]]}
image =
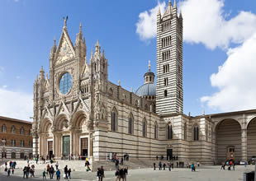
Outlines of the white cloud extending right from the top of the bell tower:
{"label": "white cloud extending right from the top of the bell tower", "polygon": [[183,12],[183,38],[188,43],[227,49],[231,43],[243,43],[256,30],[256,16],[251,12],[239,12],[225,20],[230,12],[224,12],[224,0],[185,0],[179,7]]}

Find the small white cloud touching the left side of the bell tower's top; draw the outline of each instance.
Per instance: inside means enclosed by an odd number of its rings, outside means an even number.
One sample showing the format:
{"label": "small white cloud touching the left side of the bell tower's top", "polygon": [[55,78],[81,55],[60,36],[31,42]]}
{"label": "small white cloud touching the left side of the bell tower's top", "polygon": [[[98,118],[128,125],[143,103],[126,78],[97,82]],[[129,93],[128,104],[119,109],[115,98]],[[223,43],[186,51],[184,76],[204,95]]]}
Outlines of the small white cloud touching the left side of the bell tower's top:
{"label": "small white cloud touching the left side of the bell tower's top", "polygon": [[164,12],[165,2],[158,2],[157,6],[149,11],[140,12],[139,21],[136,23],[136,33],[140,35],[140,39],[152,39],[156,35],[156,16],[160,11]]}

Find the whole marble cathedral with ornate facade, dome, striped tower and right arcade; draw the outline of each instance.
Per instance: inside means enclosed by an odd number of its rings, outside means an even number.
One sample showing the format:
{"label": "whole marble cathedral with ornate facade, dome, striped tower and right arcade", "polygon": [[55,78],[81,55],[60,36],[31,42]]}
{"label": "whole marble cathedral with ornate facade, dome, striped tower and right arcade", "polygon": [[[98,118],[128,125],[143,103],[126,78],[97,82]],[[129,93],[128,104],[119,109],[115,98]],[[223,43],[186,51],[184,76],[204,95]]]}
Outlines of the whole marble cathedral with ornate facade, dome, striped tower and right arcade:
{"label": "whole marble cathedral with ornate facade, dome, striped tower and right arcade", "polygon": [[111,61],[99,42],[88,58],[82,25],[73,44],[66,22],[50,49],[49,77],[41,67],[34,83],[34,154],[205,164],[256,155],[256,109],[183,114],[183,16],[175,1],[157,14],[156,75],[149,63],[135,92],[108,80]]}

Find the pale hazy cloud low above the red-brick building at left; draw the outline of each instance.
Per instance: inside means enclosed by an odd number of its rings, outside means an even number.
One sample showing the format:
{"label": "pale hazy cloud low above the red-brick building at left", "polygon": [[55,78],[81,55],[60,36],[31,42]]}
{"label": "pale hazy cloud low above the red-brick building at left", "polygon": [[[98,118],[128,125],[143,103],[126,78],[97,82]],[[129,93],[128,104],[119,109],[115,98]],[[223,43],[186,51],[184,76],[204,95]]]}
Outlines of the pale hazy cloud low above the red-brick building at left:
{"label": "pale hazy cloud low above the red-brick building at left", "polygon": [[33,95],[21,91],[0,88],[0,115],[31,121]]}

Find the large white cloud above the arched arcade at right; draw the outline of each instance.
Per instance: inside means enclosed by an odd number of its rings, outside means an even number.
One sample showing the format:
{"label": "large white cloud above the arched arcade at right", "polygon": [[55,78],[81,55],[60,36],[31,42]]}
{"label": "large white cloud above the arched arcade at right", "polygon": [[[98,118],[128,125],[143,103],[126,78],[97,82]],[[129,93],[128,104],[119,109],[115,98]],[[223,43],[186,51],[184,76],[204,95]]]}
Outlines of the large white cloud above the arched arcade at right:
{"label": "large white cloud above the arched arcade at right", "polygon": [[229,49],[225,63],[211,75],[211,86],[218,88],[215,94],[201,97],[210,109],[235,111],[255,109],[256,105],[256,33],[244,44]]}

